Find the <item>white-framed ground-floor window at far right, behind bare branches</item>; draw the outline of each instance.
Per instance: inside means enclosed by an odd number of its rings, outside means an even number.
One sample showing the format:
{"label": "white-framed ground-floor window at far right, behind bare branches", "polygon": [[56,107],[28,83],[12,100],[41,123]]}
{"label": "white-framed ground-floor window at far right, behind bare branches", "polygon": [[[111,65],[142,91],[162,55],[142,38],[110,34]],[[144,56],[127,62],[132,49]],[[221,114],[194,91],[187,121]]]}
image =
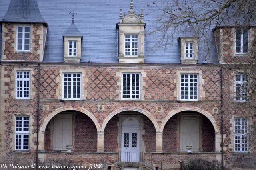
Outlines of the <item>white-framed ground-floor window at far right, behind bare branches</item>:
{"label": "white-framed ground-floor window at far right, behind bare branches", "polygon": [[234,118],[234,152],[248,152],[248,120]]}

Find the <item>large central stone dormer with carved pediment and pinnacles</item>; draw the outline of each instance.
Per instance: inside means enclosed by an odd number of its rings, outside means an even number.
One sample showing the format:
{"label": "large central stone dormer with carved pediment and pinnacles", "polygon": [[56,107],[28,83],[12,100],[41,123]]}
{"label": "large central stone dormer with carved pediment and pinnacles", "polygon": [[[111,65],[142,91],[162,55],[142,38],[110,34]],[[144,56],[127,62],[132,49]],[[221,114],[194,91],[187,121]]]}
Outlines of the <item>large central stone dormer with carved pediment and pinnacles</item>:
{"label": "large central stone dormer with carved pediment and pinnacles", "polygon": [[122,14],[120,9],[119,22],[116,28],[119,31],[119,63],[144,63],[144,15],[135,14],[133,0],[130,3],[128,14]]}

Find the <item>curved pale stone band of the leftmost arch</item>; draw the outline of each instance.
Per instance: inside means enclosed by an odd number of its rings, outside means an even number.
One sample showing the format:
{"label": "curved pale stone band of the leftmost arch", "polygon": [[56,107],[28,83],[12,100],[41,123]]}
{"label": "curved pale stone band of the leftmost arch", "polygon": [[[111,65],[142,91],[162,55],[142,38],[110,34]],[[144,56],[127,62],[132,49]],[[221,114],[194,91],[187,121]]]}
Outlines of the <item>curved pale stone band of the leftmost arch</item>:
{"label": "curved pale stone band of the leftmost arch", "polygon": [[89,111],[87,111],[86,109],[82,108],[82,107],[60,107],[56,110],[54,110],[50,115],[48,115],[48,117],[46,117],[46,119],[44,119],[44,123],[42,125],[42,127],[40,127],[40,131],[45,131],[46,126],[48,125],[49,121],[58,113],[61,113],[62,111],[80,111],[81,113],[84,113],[85,115],[87,115],[88,117],[90,117],[90,119],[92,119],[92,121],[94,122],[97,131],[100,131],[100,124],[98,123],[97,119],[94,117],[94,115],[92,113],[90,113]]}

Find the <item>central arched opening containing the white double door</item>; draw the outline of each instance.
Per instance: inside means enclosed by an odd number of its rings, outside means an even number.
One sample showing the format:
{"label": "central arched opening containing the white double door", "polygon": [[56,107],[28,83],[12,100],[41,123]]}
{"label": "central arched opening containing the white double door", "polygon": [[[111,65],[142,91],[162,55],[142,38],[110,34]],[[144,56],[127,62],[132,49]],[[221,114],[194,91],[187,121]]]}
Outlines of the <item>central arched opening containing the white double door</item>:
{"label": "central arched opening containing the white double door", "polygon": [[[136,125],[133,124],[135,122]],[[109,119],[105,127],[102,126],[102,129],[104,129],[105,152],[156,151],[156,128],[146,115],[138,111],[116,113]]]}

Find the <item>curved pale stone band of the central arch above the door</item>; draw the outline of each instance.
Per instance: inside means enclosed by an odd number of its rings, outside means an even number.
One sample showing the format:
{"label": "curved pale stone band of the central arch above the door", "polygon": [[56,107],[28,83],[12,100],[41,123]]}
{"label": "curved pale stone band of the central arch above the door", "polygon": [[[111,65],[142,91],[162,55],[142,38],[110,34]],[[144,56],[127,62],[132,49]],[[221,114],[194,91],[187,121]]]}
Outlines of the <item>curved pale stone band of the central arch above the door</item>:
{"label": "curved pale stone band of the central arch above the door", "polygon": [[156,132],[159,131],[158,123],[156,122],[156,119],[154,118],[153,115],[151,115],[148,111],[145,111],[143,109],[140,109],[140,108],[130,108],[130,107],[118,109],[118,110],[113,111],[112,113],[110,113],[110,115],[108,115],[108,117],[106,117],[106,119],[102,123],[101,131],[104,132],[104,129],[105,129],[106,125],[108,124],[108,121],[110,121],[110,119],[114,115],[117,115],[118,113],[121,113],[123,111],[137,111],[139,113],[142,113],[143,115],[145,115],[146,117],[148,117],[152,121],[152,123],[154,124],[154,127],[156,128]]}

